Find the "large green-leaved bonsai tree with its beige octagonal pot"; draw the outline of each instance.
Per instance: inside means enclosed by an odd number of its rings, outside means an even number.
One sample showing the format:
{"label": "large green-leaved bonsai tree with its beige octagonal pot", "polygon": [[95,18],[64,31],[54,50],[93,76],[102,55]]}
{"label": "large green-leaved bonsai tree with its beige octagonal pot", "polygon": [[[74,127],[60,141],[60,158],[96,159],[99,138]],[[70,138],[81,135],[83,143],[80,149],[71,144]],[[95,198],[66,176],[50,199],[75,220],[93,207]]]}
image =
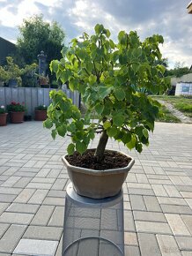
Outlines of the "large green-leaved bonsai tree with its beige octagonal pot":
{"label": "large green-leaved bonsai tree with its beige octagonal pot", "polygon": [[[121,190],[134,163],[129,155],[106,149],[108,138],[141,153],[143,145],[149,145],[149,132],[159,114],[159,102],[146,92],[165,92],[169,80],[164,79],[165,67],[157,64],[162,36],[156,34],[142,42],[137,32],[121,31],[114,43],[104,26],[98,24],[94,29],[92,36],[84,33],[73,39],[70,48],[63,49],[63,58],[50,64],[57,79],[63,84],[69,81],[70,90],[81,94],[85,116],[63,91],[51,91],[44,126],[52,129],[54,139],[56,134],[70,136],[63,162],[77,192],[105,198]],[[97,148],[87,149],[97,133]]]}

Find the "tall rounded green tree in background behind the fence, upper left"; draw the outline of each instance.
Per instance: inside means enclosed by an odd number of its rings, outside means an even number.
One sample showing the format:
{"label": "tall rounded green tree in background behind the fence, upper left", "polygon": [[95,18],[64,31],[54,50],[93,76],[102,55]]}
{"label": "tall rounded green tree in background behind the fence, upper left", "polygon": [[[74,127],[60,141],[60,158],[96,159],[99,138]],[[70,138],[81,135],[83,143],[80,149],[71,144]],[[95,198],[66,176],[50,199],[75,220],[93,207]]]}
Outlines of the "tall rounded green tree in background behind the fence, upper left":
{"label": "tall rounded green tree in background behind the fence, upper left", "polygon": [[24,19],[18,28],[18,55],[24,57],[26,64],[37,62],[37,55],[41,50],[48,56],[48,64],[52,59],[61,58],[65,34],[57,22],[50,24],[43,20],[42,14],[34,15]]}

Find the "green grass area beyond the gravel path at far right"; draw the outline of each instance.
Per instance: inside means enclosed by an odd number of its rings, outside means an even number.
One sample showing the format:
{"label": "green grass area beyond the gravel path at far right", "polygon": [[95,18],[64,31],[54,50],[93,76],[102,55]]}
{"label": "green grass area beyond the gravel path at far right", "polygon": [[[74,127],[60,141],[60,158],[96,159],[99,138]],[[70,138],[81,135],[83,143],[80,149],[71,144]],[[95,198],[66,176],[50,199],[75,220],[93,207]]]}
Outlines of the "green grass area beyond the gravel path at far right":
{"label": "green grass area beyond the gravel path at far right", "polygon": [[192,117],[192,97],[183,96],[152,96],[156,100],[171,103],[175,109],[180,110],[184,115]]}

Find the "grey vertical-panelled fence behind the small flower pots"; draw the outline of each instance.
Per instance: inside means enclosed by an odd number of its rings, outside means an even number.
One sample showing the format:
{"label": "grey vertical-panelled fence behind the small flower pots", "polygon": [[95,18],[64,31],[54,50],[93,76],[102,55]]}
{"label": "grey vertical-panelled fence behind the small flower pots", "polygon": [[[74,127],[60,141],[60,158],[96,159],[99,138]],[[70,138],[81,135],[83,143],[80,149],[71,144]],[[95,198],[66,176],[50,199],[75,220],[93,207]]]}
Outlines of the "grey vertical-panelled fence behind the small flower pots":
{"label": "grey vertical-panelled fence behind the small flower pots", "polygon": [[[31,87],[0,87],[0,106],[10,104],[11,102],[25,103],[26,114],[33,117],[34,108],[39,105],[48,106],[51,102],[49,92],[51,88],[31,88]],[[79,94],[78,92],[71,92],[68,89],[63,90],[67,96],[72,99],[73,104],[79,107]]]}

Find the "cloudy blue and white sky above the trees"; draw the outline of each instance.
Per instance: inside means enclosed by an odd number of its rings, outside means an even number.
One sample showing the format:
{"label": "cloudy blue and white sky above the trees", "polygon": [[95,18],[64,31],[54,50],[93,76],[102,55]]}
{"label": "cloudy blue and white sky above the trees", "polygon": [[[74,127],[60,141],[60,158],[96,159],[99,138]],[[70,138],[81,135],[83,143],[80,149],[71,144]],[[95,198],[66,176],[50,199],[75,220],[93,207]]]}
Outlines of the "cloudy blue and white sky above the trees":
{"label": "cloudy blue and white sky above the trees", "polygon": [[57,21],[63,28],[68,45],[83,32],[93,33],[97,23],[117,34],[136,30],[143,41],[152,34],[162,34],[160,47],[167,57],[169,68],[180,62],[192,64],[192,14],[190,0],[0,0],[0,36],[16,42],[18,26],[23,19],[43,14],[44,20]]}

